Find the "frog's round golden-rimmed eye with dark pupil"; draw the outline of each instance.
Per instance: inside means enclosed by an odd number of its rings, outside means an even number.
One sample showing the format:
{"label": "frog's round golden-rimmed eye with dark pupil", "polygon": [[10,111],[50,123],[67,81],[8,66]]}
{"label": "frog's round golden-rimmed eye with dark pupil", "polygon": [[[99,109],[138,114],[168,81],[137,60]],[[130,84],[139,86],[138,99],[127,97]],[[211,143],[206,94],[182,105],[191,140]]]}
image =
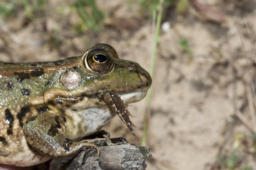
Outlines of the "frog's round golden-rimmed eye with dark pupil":
{"label": "frog's round golden-rimmed eye with dark pupil", "polygon": [[113,68],[113,60],[105,50],[92,50],[85,53],[83,65],[91,72],[105,74]]}

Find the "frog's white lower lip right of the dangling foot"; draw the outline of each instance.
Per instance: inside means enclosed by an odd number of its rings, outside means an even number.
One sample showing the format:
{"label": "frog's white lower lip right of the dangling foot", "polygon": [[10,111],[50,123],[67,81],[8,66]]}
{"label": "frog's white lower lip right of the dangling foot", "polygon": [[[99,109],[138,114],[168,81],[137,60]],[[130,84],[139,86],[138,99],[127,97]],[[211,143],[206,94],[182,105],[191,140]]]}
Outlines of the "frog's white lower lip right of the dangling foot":
{"label": "frog's white lower lip right of the dangling foot", "polygon": [[134,103],[142,100],[146,96],[146,91],[136,91],[129,94],[118,94],[126,103]]}

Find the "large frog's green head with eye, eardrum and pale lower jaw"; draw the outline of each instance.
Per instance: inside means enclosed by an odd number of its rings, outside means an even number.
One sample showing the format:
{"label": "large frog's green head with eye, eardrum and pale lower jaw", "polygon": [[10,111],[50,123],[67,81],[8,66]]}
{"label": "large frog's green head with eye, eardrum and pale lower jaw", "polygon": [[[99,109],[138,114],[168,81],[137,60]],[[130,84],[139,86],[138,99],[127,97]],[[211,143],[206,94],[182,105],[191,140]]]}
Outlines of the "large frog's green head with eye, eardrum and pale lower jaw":
{"label": "large frog's green head with eye, eardrum and pale lower jaw", "polygon": [[110,45],[97,44],[78,57],[71,69],[63,71],[55,86],[65,91],[65,97],[112,91],[125,102],[133,103],[144,98],[151,77],[136,62],[119,59]]}

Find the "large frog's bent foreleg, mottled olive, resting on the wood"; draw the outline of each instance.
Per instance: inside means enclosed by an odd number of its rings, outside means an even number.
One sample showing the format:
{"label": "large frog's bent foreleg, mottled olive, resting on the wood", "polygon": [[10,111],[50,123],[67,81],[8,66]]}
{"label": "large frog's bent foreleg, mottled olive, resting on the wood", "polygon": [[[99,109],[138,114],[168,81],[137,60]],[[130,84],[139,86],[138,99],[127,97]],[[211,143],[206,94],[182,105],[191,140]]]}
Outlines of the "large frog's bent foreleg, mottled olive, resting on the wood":
{"label": "large frog's bent foreleg, mottled olive, resting on the wood", "polygon": [[73,142],[61,131],[65,118],[43,113],[27,120],[23,126],[26,140],[36,151],[56,159],[71,159],[82,147],[94,147],[100,156],[100,149],[93,144],[95,140]]}

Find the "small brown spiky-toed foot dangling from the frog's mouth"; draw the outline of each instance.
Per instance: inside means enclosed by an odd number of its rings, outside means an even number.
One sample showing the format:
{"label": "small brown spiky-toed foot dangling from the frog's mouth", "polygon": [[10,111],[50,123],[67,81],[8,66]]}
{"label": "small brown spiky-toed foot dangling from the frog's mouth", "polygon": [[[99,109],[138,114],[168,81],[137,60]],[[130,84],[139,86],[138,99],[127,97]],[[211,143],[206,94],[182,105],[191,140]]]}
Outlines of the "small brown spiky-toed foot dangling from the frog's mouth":
{"label": "small brown spiky-toed foot dangling from the frog's mouth", "polygon": [[122,99],[114,94],[112,91],[107,91],[103,94],[99,94],[98,97],[104,101],[107,105],[111,106],[112,110],[117,113],[119,118],[123,121],[125,125],[127,125],[130,132],[136,140],[139,141],[139,138],[135,135],[132,127],[137,128],[136,125],[132,123],[129,116],[134,117],[131,113],[129,113],[127,109],[127,104],[122,101]]}

